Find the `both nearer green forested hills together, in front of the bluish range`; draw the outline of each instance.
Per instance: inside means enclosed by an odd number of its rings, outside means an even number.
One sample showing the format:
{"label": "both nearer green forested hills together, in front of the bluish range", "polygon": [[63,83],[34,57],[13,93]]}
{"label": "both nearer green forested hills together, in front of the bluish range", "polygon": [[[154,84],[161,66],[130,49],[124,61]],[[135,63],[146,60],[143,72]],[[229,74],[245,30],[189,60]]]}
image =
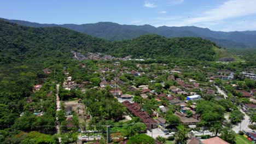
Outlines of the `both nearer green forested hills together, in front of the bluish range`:
{"label": "both nearer green forested hills together, in front of the bluish range", "polygon": [[133,58],[192,58],[216,61],[216,46],[202,38],[165,38],[142,35],[136,39],[110,42],[62,27],[33,28],[0,20],[1,63],[46,61],[72,57],[71,50],[102,52]]}

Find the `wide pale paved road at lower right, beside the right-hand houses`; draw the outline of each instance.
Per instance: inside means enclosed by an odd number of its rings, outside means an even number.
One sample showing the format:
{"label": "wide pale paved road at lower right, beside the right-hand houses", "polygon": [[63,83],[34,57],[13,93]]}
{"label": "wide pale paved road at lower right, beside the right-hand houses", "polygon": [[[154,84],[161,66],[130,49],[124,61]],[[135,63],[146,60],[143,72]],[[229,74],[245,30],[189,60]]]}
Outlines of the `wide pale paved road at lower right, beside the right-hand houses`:
{"label": "wide pale paved road at lower right, beside the right-hand houses", "polygon": [[250,117],[246,115],[246,113],[242,110],[239,109],[242,113],[245,114],[245,119],[243,119],[243,121],[241,123],[238,123],[237,125],[235,125],[234,128],[232,128],[232,130],[234,130],[236,133],[238,133],[238,131],[240,131],[240,124],[241,124],[241,130],[245,130],[245,131],[252,131],[252,129],[248,128],[248,125],[250,123]]}

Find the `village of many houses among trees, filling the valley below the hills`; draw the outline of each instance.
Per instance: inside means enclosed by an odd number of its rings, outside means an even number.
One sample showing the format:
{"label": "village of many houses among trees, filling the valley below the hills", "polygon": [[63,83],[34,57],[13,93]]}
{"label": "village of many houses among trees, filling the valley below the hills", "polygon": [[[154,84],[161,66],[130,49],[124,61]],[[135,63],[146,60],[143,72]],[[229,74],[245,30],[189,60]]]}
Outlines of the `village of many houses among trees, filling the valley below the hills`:
{"label": "village of many houses among trees, filling the valley below the hills", "polygon": [[[221,124],[229,125],[236,134],[243,133],[248,140],[256,139],[252,117],[256,109],[256,89],[250,89],[249,84],[237,81],[254,80],[253,74],[235,74],[235,71],[205,66],[147,64],[141,60],[133,61],[130,57],[117,59],[111,56],[100,57],[100,54],[94,53],[84,57],[80,53],[72,53],[77,66],[68,68],[67,65],[63,68],[65,80],[55,93],[57,133],[77,131],[78,142],[101,139],[123,142],[130,134],[122,132],[125,126],[118,128],[116,125],[143,123],[144,128],[133,133],[144,133],[156,140],[159,137],[172,140],[177,133],[177,125],[183,124],[189,129],[187,143],[191,144],[193,141],[217,139],[220,133],[213,130],[213,127]],[[47,77],[54,71],[46,68],[43,73]],[[34,93],[40,92],[46,77],[33,86]],[[106,96],[96,96],[97,92]],[[53,97],[54,92],[50,91],[47,95]],[[100,103],[104,97],[108,97],[108,102],[102,103],[113,103],[113,107],[92,107],[92,101]],[[32,104],[33,99],[28,98],[27,103]],[[115,105],[120,110],[115,109]],[[210,108],[205,105],[219,105],[224,110],[220,114],[214,111],[219,111],[219,107]],[[207,110],[209,108],[213,110]],[[210,118],[212,112],[218,116]],[[23,115],[21,113],[20,116]],[[40,117],[45,112],[37,108],[34,115]],[[110,125],[109,135],[106,132],[107,125]]]}

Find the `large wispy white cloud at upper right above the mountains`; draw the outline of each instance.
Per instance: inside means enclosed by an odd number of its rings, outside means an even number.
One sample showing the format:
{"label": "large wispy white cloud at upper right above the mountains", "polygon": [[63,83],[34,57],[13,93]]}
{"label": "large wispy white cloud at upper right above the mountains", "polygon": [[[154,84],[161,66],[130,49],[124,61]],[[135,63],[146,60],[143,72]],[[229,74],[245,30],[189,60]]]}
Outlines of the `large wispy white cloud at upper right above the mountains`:
{"label": "large wispy white cloud at upper right above the mountains", "polygon": [[[253,20],[247,21],[243,24],[238,24],[234,21],[241,21],[245,16],[251,16],[256,14],[255,8],[256,0],[229,0],[222,4],[217,5],[215,8],[202,11],[199,15],[193,17],[156,17],[155,19],[161,22],[156,23],[154,26],[199,26],[208,28],[218,28],[222,31],[235,31],[245,30],[251,27],[247,25],[249,23],[255,24]],[[234,21],[234,22],[229,22]],[[222,25],[222,26],[220,26]],[[227,25],[224,29],[224,26]],[[250,25],[253,28],[256,26]],[[220,29],[222,28],[223,29]]]}

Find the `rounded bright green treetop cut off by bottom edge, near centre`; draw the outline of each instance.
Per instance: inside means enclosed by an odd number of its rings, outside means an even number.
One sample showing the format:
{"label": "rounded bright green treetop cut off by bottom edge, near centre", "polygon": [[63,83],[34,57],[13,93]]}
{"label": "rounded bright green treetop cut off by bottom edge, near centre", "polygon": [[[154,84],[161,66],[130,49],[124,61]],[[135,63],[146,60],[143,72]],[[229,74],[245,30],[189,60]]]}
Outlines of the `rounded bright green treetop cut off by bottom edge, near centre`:
{"label": "rounded bright green treetop cut off by bottom edge, near centre", "polygon": [[130,137],[130,140],[127,142],[127,144],[143,144],[143,143],[148,143],[148,144],[154,144],[155,140],[146,134],[139,134],[139,135],[134,135]]}

